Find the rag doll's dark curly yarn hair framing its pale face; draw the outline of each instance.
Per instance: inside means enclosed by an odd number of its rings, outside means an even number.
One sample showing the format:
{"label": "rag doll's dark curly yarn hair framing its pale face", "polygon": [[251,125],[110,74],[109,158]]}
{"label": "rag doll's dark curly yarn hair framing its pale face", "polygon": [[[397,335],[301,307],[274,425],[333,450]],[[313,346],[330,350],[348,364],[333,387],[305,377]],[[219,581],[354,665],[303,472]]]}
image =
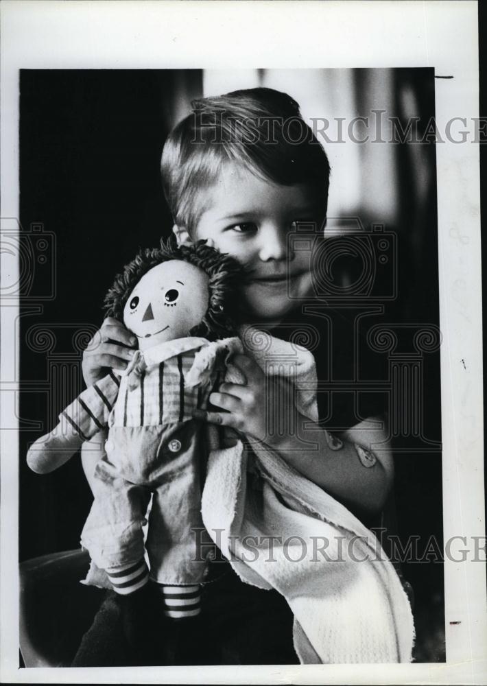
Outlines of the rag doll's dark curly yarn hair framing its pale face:
{"label": "rag doll's dark curly yarn hair framing its pale face", "polygon": [[169,260],[182,260],[202,269],[209,277],[209,305],[200,324],[189,335],[202,336],[208,340],[226,338],[236,333],[231,312],[237,311],[236,293],[243,277],[239,263],[200,240],[193,244],[178,245],[174,236],[161,239],[160,248],[143,248],[129,262],[106,294],[104,309],[107,317],[123,321],[123,308],[130,293],[144,274],[153,267]]}

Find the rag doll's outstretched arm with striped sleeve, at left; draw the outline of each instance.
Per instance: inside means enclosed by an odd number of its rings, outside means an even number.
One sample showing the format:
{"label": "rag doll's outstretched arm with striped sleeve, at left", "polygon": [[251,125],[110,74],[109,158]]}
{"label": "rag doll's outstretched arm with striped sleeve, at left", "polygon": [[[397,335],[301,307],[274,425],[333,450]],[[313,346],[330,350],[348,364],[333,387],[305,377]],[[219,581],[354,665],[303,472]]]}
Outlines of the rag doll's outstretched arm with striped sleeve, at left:
{"label": "rag doll's outstretched arm with striped sleeve, at left", "polygon": [[119,379],[113,372],[86,388],[71,405],[62,410],[59,423],[41,436],[27,453],[27,464],[38,474],[58,469],[100,429],[106,427],[108,416],[117,399]]}

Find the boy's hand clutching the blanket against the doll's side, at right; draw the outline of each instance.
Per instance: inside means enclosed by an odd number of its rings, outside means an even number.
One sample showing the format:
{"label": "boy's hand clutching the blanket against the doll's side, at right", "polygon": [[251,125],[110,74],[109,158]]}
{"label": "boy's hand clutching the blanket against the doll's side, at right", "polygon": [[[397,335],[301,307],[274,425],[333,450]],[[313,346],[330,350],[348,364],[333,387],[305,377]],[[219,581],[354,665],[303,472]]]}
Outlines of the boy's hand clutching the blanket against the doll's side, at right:
{"label": "boy's hand clutching the blanket against the doll's side, at right", "polygon": [[292,414],[296,414],[296,409],[291,383],[279,377],[266,377],[259,365],[246,355],[234,355],[230,362],[244,375],[244,384],[221,383],[218,392],[210,394],[212,405],[224,412],[195,410],[193,416],[274,445],[283,419],[284,432],[294,423]]}

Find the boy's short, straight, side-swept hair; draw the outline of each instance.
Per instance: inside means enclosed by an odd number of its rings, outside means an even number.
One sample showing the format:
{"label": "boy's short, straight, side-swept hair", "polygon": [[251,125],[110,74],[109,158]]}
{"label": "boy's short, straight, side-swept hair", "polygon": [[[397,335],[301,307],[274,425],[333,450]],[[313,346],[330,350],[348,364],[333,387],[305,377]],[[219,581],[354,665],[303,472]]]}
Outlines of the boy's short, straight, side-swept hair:
{"label": "boy's short, straight, side-swept hair", "polygon": [[326,215],[330,166],[297,102],[272,88],[193,100],[192,113],[169,134],[161,171],[174,222],[193,232],[204,194],[225,162],[279,185],[306,184]]}

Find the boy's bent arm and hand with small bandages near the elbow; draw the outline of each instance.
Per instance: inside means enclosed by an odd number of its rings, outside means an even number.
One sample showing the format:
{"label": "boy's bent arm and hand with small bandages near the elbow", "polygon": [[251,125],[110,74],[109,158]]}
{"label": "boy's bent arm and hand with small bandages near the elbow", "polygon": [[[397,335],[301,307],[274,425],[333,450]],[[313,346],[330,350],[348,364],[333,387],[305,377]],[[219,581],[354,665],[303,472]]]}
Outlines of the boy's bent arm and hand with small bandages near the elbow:
{"label": "boy's bent arm and hand with small bandages near the elbow", "polygon": [[[198,418],[229,426],[249,440],[265,443],[327,493],[351,508],[379,512],[388,497],[394,468],[387,436],[377,421],[364,421],[335,438],[298,413],[294,387],[279,379],[266,383],[261,368],[246,355],[232,364],[245,383],[222,383],[210,402],[223,412],[196,411]],[[275,427],[283,426],[283,431]],[[380,444],[380,450],[372,445]]]}

